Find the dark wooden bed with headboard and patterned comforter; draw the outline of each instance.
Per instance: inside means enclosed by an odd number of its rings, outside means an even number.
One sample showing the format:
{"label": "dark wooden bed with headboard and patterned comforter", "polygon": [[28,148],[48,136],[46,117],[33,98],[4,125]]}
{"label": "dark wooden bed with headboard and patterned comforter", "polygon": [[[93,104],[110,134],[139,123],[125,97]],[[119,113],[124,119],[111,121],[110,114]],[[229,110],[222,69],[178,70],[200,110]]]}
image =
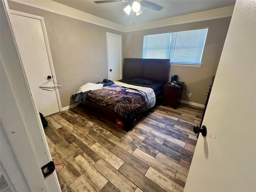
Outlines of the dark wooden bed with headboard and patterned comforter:
{"label": "dark wooden bed with headboard and patterned comforter", "polygon": [[[160,98],[168,82],[170,60],[124,58],[123,78],[86,94],[81,104],[106,114],[129,131]],[[72,95],[75,99],[77,94]]]}

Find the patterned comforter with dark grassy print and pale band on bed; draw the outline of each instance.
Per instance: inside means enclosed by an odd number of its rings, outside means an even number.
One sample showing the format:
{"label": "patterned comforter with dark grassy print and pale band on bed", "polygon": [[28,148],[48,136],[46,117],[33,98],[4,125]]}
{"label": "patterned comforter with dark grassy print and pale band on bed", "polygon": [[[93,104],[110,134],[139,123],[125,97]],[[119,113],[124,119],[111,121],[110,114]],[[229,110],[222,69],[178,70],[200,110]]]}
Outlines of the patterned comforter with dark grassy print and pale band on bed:
{"label": "patterned comforter with dark grassy print and pale band on bed", "polygon": [[156,104],[152,88],[114,81],[113,85],[90,91],[87,99],[116,112],[122,119],[131,120]]}

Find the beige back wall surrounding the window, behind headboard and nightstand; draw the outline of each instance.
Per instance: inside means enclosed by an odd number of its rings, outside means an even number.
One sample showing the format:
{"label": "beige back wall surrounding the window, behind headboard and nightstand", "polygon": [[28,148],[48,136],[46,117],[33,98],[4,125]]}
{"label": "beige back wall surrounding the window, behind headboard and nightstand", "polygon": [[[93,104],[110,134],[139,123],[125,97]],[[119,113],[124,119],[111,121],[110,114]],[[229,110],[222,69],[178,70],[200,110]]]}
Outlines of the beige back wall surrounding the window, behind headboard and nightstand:
{"label": "beige back wall surrounding the window, behind headboard and nightstand", "polygon": [[186,91],[182,93],[182,100],[205,104],[208,87],[212,76],[215,76],[220,55],[228,32],[230,17],[154,29],[127,32],[124,35],[124,57],[142,58],[144,35],[160,34],[166,32],[191,30],[208,27],[201,67],[171,66],[170,76],[178,74],[179,80],[186,83],[192,97]]}

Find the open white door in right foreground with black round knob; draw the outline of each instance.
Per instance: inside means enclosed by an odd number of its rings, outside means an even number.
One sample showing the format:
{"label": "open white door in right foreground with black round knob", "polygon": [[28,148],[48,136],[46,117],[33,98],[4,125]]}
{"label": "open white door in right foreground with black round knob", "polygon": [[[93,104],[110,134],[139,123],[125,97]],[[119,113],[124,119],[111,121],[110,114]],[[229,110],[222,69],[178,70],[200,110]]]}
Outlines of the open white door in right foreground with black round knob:
{"label": "open white door in right foreground with black round knob", "polygon": [[256,191],[256,1],[237,0],[184,192]]}

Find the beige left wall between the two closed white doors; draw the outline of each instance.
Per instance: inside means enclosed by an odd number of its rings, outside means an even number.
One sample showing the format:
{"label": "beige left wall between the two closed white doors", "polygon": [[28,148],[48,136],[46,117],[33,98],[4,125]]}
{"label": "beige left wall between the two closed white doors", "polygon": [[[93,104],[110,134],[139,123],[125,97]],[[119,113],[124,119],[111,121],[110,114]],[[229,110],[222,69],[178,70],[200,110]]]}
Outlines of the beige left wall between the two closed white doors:
{"label": "beige left wall between the two closed white doors", "polygon": [[106,32],[123,32],[8,1],[9,8],[44,17],[62,107],[87,82],[108,78]]}

